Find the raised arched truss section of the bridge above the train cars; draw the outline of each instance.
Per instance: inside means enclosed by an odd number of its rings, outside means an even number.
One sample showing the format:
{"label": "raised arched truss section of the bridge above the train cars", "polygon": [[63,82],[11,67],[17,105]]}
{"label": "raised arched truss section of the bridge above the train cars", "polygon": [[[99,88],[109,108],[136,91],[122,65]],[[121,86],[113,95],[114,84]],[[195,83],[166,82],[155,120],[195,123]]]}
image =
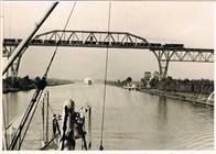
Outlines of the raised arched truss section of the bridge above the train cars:
{"label": "raised arched truss section of the bridge above the train cars", "polygon": [[[148,45],[145,38],[138,35],[130,34],[128,32],[106,32],[106,31],[62,31],[55,30],[39,34],[35,36],[35,40],[46,40],[48,43],[55,44],[68,44],[75,45],[97,45],[104,47],[104,45],[116,46],[119,45],[132,45],[141,44]],[[129,43],[129,44],[127,44]],[[76,46],[76,45],[75,45]]]}

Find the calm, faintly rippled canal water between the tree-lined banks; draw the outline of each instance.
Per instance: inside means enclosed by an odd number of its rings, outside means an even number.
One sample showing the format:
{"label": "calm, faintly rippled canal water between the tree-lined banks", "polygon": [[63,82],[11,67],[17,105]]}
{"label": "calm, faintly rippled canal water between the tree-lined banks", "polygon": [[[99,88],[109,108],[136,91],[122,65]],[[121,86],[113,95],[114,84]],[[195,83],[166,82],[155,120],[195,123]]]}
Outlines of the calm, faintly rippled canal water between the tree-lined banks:
{"label": "calm, faintly rippled canal water between the tree-lined banks", "polygon": [[[72,84],[48,87],[51,106],[62,113],[72,98],[76,108],[93,108],[93,150],[99,148],[104,85]],[[28,107],[34,90],[3,95],[7,122]],[[7,105],[7,106],[6,106]],[[22,150],[37,150],[42,139],[41,107],[26,134]],[[213,150],[214,110],[181,100],[107,86],[105,150]],[[51,120],[52,121],[52,116]],[[52,128],[50,125],[50,136]]]}

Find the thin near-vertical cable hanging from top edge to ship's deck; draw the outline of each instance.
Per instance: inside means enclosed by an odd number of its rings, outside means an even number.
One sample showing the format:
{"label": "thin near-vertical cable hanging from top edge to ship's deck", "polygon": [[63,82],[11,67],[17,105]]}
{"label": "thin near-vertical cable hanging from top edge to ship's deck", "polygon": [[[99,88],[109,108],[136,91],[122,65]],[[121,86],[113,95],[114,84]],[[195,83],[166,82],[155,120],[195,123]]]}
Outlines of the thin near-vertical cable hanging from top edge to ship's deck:
{"label": "thin near-vertical cable hanging from top edge to ship's deck", "polygon": [[[109,42],[109,29],[110,29],[110,11],[111,11],[111,2],[109,1],[109,13],[108,13],[108,42]],[[104,103],[102,103],[102,118],[101,118],[101,130],[100,130],[100,145],[99,150],[104,150],[102,141],[104,141],[104,125],[105,125],[105,103],[106,103],[106,89],[107,89],[107,72],[108,72],[108,58],[109,58],[109,47],[107,45],[106,52],[106,63],[105,63],[105,80],[104,80]]]}

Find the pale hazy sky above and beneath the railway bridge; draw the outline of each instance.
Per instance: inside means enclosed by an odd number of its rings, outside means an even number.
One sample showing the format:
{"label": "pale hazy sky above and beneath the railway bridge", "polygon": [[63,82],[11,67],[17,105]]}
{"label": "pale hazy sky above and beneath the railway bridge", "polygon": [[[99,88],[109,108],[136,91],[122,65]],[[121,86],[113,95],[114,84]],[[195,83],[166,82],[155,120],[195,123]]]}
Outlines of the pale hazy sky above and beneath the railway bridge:
{"label": "pale hazy sky above and beneath the railway bridge", "polygon": [[[63,29],[74,2],[60,2],[36,34]],[[3,36],[25,37],[45,14],[52,2],[3,2]],[[108,2],[76,3],[67,30],[108,30]],[[213,2],[114,1],[110,31],[130,32],[149,42],[180,43],[186,47],[214,47]],[[54,47],[29,47],[19,75],[42,76]],[[105,76],[106,48],[58,48],[50,77],[82,79]],[[109,50],[108,79],[131,76],[140,80],[144,72],[159,70],[154,55],[141,50]],[[174,78],[214,78],[214,65],[207,63],[170,63]]]}

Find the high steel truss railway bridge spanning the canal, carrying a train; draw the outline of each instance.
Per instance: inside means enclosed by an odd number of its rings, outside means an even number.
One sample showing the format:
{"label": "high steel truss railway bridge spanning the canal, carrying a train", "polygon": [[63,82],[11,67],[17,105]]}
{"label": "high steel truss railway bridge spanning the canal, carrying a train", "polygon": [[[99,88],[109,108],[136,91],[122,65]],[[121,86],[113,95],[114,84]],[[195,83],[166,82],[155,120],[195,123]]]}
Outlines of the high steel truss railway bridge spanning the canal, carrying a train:
{"label": "high steel truss railway bridge spanning the canal, carrying a train", "polygon": [[[3,40],[3,57],[10,57],[22,38]],[[188,48],[184,44],[149,43],[145,38],[128,32],[102,31],[48,31],[35,35],[28,46],[66,46],[66,47],[109,47],[134,48],[152,52],[159,62],[161,77],[166,77],[170,62],[214,63],[214,50]],[[28,48],[25,47],[25,50]],[[22,55],[11,67],[12,76],[18,76]]]}

